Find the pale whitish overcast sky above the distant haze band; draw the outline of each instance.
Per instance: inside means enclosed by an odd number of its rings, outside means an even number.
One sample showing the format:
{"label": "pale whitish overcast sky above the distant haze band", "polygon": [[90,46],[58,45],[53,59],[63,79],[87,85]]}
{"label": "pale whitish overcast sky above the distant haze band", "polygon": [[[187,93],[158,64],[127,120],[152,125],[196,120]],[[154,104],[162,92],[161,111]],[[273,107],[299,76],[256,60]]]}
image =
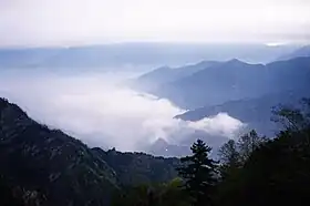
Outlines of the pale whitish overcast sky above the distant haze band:
{"label": "pale whitish overcast sky above the distant haze band", "polygon": [[0,47],[310,39],[310,0],[0,0]]}

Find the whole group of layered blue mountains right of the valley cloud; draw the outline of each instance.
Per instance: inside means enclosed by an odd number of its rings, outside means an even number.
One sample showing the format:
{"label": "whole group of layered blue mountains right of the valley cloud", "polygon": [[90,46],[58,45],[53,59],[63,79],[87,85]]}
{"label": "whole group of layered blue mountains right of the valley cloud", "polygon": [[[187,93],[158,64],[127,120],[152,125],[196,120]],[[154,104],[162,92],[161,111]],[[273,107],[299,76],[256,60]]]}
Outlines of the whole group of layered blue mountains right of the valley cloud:
{"label": "whole group of layered blue mountains right of the valley cloud", "polygon": [[[270,121],[272,107],[296,105],[300,99],[310,97],[309,51],[310,47],[303,47],[280,58],[285,60],[267,64],[232,59],[158,69],[136,79],[136,85],[189,110],[177,119],[199,121],[225,112],[272,136],[279,128]],[[153,87],[147,87],[149,84]]]}

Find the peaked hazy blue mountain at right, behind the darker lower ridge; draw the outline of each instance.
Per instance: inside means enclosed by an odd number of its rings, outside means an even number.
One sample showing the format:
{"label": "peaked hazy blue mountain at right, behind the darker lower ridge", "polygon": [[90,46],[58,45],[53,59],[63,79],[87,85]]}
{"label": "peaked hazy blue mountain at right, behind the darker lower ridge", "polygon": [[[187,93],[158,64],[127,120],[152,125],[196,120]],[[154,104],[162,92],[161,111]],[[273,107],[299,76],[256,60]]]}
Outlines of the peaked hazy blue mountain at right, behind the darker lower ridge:
{"label": "peaked hazy blue mountain at right, behind the darker lower ridge", "polygon": [[296,87],[306,89],[309,80],[310,58],[268,64],[249,64],[234,59],[164,84],[153,94],[193,110]]}

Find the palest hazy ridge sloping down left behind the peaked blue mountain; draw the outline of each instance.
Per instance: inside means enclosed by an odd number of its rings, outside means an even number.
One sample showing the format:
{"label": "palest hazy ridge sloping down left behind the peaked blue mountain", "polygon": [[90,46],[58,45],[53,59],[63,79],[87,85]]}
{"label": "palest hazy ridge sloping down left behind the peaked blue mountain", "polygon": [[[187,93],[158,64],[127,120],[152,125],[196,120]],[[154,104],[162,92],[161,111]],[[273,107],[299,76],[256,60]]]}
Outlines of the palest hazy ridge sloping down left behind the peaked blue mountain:
{"label": "palest hazy ridge sloping down left behind the peaked blue mountain", "polygon": [[141,75],[132,82],[132,86],[144,92],[152,92],[161,85],[186,78],[218,63],[219,62],[216,61],[203,61],[197,64],[179,68],[162,66]]}

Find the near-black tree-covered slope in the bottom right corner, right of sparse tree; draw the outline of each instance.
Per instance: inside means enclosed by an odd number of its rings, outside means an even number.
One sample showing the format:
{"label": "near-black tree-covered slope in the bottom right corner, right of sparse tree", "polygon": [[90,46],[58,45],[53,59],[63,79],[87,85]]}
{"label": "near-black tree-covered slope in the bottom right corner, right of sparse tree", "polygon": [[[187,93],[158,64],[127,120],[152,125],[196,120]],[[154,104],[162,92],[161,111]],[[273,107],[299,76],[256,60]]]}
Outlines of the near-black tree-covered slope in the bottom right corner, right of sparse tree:
{"label": "near-black tree-covered slope in the bottom right corner, right of sparse tree", "polygon": [[283,107],[278,119],[285,130],[252,150],[242,166],[217,186],[217,205],[268,206],[307,203],[310,185],[309,101],[302,110]]}

